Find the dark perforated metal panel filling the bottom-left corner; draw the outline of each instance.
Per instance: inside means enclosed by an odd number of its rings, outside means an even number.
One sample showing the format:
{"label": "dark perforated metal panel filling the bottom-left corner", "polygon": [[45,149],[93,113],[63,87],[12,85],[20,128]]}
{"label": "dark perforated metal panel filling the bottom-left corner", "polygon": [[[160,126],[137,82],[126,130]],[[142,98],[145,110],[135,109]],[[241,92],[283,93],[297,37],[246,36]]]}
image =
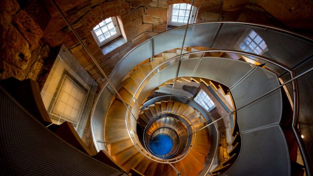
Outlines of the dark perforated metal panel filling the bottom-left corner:
{"label": "dark perforated metal panel filling the bottom-left corner", "polygon": [[0,139],[0,175],[111,175],[120,172],[51,134],[2,89]]}

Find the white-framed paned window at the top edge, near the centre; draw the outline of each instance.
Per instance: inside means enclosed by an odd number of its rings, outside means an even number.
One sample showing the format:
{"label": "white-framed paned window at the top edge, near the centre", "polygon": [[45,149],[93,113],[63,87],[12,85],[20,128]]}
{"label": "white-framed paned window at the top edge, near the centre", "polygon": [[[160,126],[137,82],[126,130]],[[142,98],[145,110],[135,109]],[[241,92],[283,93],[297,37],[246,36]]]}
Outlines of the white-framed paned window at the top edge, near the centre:
{"label": "white-framed paned window at the top edge, near the centre", "polygon": [[[187,24],[190,8],[191,8],[191,5],[185,4],[185,3],[170,5],[168,25],[180,26],[180,25]],[[189,23],[194,22],[196,11],[197,11],[197,8],[192,6]]]}

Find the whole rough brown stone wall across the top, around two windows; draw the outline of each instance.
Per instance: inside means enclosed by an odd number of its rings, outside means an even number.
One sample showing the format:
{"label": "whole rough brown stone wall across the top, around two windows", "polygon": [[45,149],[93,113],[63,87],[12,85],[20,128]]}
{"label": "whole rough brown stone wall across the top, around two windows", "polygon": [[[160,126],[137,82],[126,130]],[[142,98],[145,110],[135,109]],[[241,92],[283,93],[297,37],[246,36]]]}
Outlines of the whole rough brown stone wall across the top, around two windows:
{"label": "whole rough brown stone wall across the top, around two windows", "polygon": [[[168,5],[188,3],[198,8],[196,22],[240,21],[287,28],[311,35],[313,2],[267,0],[56,0],[101,69],[109,75],[121,58],[139,43],[167,29]],[[126,43],[103,54],[91,29],[108,17],[118,17]],[[44,0],[0,2],[1,79],[40,80],[54,61],[51,49],[64,44],[92,78],[105,79],[54,7]],[[114,41],[112,41],[114,42]],[[54,49],[58,50],[58,49]],[[52,56],[50,56],[52,55]],[[41,76],[40,76],[41,75]]]}

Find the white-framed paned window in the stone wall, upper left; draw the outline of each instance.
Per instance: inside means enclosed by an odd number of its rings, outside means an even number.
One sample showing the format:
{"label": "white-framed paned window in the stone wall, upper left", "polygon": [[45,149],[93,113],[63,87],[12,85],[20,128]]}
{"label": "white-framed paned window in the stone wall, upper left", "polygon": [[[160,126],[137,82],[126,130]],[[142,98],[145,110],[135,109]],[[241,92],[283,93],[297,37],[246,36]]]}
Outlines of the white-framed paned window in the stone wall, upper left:
{"label": "white-framed paned window in the stone wall, upper left", "polygon": [[107,18],[101,21],[92,30],[92,35],[99,46],[102,46],[109,41],[121,35],[115,17]]}

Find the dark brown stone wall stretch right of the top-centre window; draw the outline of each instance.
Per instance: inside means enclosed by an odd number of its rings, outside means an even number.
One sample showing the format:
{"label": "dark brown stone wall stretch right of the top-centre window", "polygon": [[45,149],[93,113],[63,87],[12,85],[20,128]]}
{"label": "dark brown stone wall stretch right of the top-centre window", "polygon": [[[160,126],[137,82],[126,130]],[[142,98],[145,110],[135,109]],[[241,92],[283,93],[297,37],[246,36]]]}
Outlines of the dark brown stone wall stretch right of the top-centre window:
{"label": "dark brown stone wall stretch right of the top-centre window", "polygon": [[313,29],[312,11],[313,2],[309,0],[203,0],[196,22],[258,23],[311,35]]}

